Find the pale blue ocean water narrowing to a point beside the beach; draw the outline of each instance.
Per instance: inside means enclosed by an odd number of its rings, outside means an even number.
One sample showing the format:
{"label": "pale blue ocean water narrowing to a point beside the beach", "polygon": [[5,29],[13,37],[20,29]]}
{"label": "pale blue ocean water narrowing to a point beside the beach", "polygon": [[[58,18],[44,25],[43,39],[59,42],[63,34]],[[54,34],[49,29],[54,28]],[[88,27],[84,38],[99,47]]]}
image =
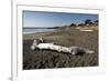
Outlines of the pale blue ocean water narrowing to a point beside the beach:
{"label": "pale blue ocean water narrowing to a point beside the beach", "polygon": [[55,29],[40,29],[40,28],[23,28],[23,34],[35,33],[35,32],[47,32]]}

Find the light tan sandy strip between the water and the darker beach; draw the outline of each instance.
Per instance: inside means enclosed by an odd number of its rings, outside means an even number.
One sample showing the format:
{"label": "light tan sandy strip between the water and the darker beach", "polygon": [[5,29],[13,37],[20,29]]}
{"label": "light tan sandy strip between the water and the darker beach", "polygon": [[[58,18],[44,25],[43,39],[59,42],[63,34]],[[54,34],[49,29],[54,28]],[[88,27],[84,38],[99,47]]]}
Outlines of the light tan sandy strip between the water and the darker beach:
{"label": "light tan sandy strip between the water and the darker beach", "polygon": [[[23,40],[29,40],[29,39],[36,39],[36,38],[41,38],[41,37],[46,37],[46,36],[51,36],[51,34],[56,34],[56,33],[59,33],[59,32],[65,32],[65,33],[69,33],[69,32],[81,32],[81,31],[87,31],[89,32],[88,30],[92,31],[97,31],[98,32],[98,27],[90,27],[90,29],[88,29],[88,27],[85,27],[85,28],[80,28],[80,27],[77,27],[77,28],[68,28],[68,29],[54,29],[52,31],[43,31],[43,32],[33,32],[33,33],[22,33],[23,36]],[[95,32],[92,31],[92,32]],[[64,33],[64,34],[65,34]],[[57,34],[56,34],[57,36]]]}

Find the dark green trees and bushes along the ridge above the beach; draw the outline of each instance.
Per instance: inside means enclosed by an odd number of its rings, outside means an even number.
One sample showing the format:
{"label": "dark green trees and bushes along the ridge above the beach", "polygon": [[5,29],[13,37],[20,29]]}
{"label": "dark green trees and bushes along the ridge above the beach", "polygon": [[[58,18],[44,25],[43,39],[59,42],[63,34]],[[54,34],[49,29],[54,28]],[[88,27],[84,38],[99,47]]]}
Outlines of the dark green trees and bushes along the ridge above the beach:
{"label": "dark green trees and bushes along the ridge above the beach", "polygon": [[90,19],[87,19],[85,20],[84,23],[78,23],[78,24],[72,23],[69,27],[85,27],[85,26],[90,27],[90,26],[98,26],[98,24],[99,24],[98,20],[91,21]]}

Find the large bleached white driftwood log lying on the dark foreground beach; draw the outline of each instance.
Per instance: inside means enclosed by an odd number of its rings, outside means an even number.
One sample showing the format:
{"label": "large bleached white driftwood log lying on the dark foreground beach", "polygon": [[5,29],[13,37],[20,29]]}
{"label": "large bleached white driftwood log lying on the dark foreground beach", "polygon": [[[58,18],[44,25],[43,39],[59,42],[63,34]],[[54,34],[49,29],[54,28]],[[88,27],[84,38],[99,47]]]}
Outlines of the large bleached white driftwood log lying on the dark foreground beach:
{"label": "large bleached white driftwood log lying on the dark foreground beach", "polygon": [[33,44],[31,45],[32,50],[35,50],[35,48],[37,49],[47,49],[47,50],[56,50],[57,52],[66,52],[66,53],[72,53],[72,54],[77,54],[77,53],[95,53],[91,50],[85,49],[85,48],[80,48],[80,47],[62,47],[62,45],[57,45],[54,43],[37,43],[36,40],[33,41]]}

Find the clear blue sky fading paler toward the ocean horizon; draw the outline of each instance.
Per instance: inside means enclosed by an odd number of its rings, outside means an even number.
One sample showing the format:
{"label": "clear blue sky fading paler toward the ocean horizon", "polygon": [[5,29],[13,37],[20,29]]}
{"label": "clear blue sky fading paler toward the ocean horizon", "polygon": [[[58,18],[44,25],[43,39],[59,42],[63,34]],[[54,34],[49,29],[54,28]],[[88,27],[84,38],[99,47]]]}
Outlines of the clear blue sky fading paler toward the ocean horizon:
{"label": "clear blue sky fading paler toward the ocean horizon", "polygon": [[23,11],[23,27],[61,27],[98,20],[98,14]]}

